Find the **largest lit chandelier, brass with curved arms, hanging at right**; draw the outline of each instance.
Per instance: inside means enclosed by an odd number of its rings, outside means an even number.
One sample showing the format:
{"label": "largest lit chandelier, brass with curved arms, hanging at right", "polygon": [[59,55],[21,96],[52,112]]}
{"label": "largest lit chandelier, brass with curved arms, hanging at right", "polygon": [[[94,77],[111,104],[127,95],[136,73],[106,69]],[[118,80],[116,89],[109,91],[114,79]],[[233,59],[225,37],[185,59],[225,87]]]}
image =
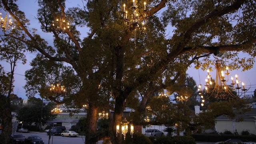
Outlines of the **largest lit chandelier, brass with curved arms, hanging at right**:
{"label": "largest lit chandelier, brass with curved arms, hanging at right", "polygon": [[[235,83],[234,83],[234,79],[231,76],[231,80],[232,83],[230,85],[227,84],[227,82],[229,81],[229,75],[230,73],[228,72],[228,66],[226,66],[225,70],[226,73],[224,74],[224,70],[222,70],[221,68],[221,64],[218,62],[218,60],[215,61],[215,69],[216,69],[216,78],[215,81],[211,79],[211,75],[210,75],[210,70],[207,69],[207,78],[205,79],[206,85],[205,86],[205,91],[206,91],[206,96],[207,98],[204,98],[204,96],[202,95],[202,86],[201,84],[198,86],[198,94],[200,95],[201,99],[202,99],[202,106],[203,106],[203,102],[205,99],[208,99],[210,97],[214,97],[217,99],[227,99],[228,97],[233,97],[233,98],[237,98],[239,97],[239,89],[241,89],[241,87],[239,87],[239,83],[240,81],[238,80],[238,75],[235,75]],[[226,76],[225,76],[226,75]],[[244,88],[244,82],[242,82],[242,91],[245,91],[247,89]],[[238,90],[238,93],[234,93],[235,90]]]}

